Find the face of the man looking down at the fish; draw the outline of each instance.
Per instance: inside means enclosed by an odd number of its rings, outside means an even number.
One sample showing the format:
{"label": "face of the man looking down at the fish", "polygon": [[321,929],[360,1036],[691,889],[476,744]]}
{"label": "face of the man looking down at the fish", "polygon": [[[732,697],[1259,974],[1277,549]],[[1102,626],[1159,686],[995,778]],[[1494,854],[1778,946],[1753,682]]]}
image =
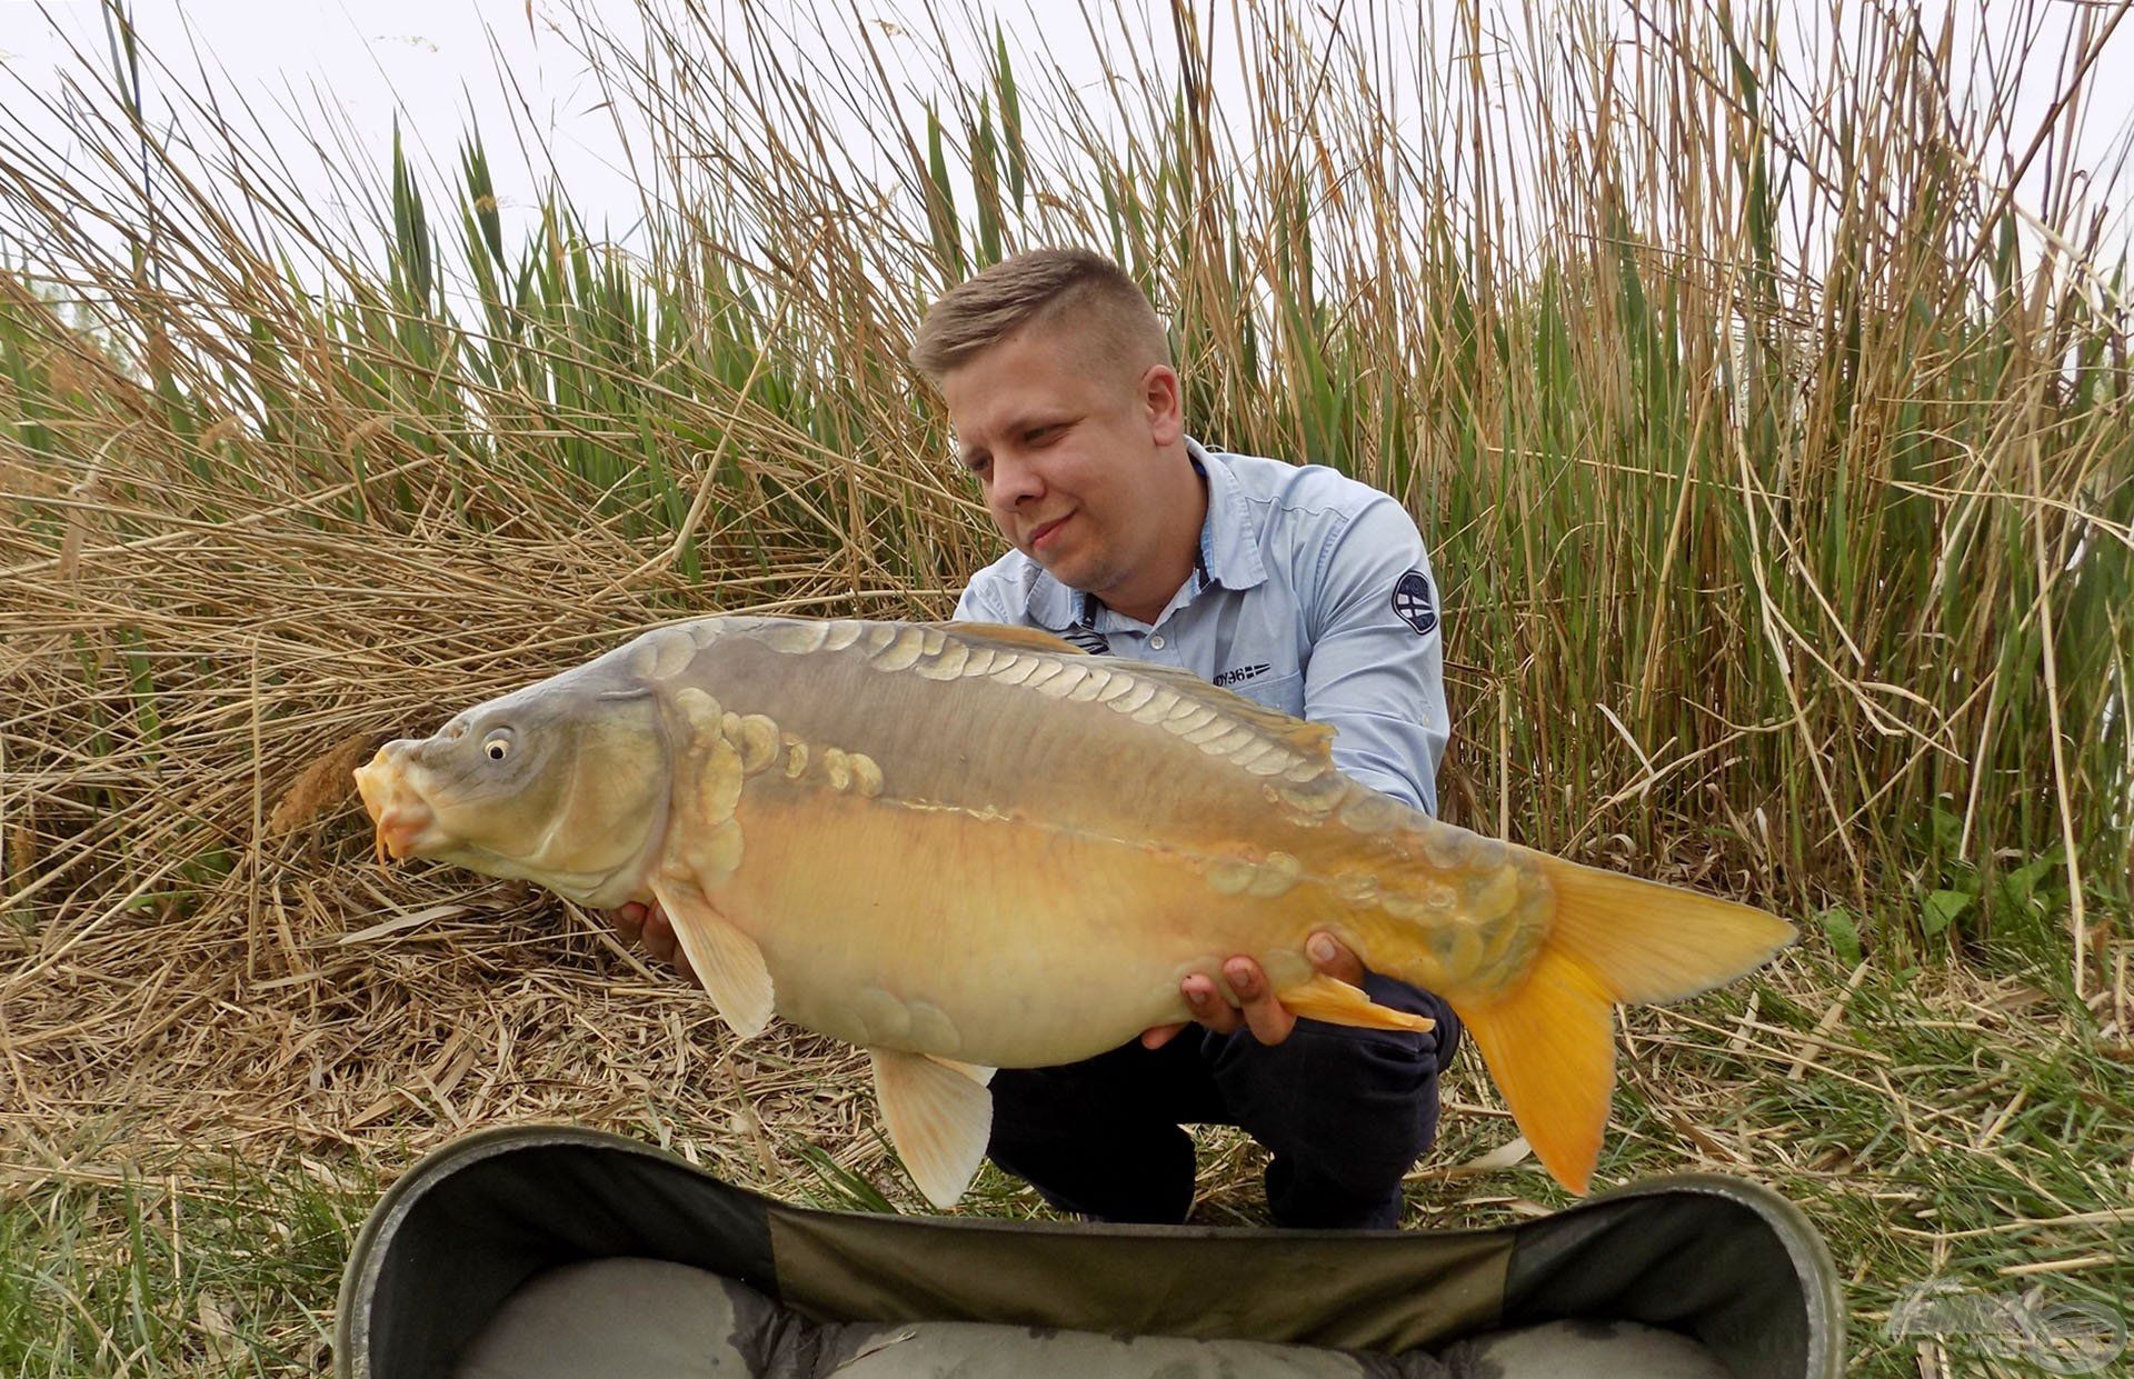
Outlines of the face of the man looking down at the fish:
{"label": "face of the man looking down at the fish", "polygon": [[1071,327],[1024,327],[941,378],[958,455],[1001,536],[1097,593],[1159,559],[1161,463],[1180,433],[1167,365],[1133,378]]}

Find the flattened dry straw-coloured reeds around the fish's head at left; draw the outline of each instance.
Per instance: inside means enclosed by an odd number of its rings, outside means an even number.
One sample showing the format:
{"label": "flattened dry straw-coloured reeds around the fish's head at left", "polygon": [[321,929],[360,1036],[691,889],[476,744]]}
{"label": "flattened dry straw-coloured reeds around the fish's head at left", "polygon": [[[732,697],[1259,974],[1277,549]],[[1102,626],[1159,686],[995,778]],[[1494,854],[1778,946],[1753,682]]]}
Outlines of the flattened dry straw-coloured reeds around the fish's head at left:
{"label": "flattened dry straw-coloured reeds around the fish's head at left", "polygon": [[[553,899],[380,873],[348,775],[382,736],[655,619],[600,591],[617,553],[378,546],[260,512],[152,549],[92,540],[68,572],[23,572],[19,538],[0,555],[21,596],[0,608],[9,734],[55,758],[9,790],[28,882],[0,937],[9,1142],[122,1116],[137,1153],[273,1161],[405,1125],[726,1123],[728,1087],[676,1063],[713,1044],[696,993]],[[775,1106],[792,1059],[749,1061]]]}

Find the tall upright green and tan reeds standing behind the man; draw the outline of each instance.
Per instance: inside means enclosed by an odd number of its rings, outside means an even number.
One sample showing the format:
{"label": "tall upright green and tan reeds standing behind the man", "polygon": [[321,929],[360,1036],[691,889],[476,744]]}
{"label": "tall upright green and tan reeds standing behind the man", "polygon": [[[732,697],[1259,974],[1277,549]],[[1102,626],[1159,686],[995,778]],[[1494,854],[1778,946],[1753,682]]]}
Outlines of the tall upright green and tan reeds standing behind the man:
{"label": "tall upright green and tan reeds standing behind the man", "polygon": [[[1775,4],[1654,6],[1630,41],[1605,6],[1549,13],[1455,6],[1402,92],[1417,137],[1368,45],[1302,43],[1276,4],[1180,9],[1169,66],[1097,88],[943,11],[962,47],[918,107],[864,28],[862,60],[798,70],[745,60],[773,38],[755,6],[732,32],[651,9],[642,47],[580,30],[659,171],[627,254],[563,188],[510,243],[469,132],[433,179],[395,143],[391,224],[348,239],[243,186],[250,233],[162,177],[166,233],[128,258],[70,228],[87,188],[0,139],[13,218],[113,342],[11,290],[9,450],[68,482],[105,455],[98,482],[158,514],[111,538],[327,493],[297,521],[595,523],[640,564],[578,578],[666,606],[939,615],[994,542],[903,363],[918,312],[1093,243],[1172,320],[1197,435],[1417,514],[1462,822],[2093,986],[2134,792],[2108,194],[2066,192],[2064,139],[2044,205],[2008,194],[2047,143],[1965,92],[2019,49],[1965,85],[1895,11],[1812,70]],[[2121,17],[2081,26],[2049,128]],[[130,139],[177,171],[169,137],[102,128],[111,160]],[[62,540],[34,480],[6,502]]]}

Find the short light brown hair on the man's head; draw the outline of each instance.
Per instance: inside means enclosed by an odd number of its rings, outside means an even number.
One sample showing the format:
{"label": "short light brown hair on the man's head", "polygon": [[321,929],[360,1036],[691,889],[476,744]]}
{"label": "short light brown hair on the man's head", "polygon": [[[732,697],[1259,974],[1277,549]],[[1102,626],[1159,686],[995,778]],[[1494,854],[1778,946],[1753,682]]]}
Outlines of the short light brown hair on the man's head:
{"label": "short light brown hair on the man's head", "polygon": [[1090,250],[1029,250],[943,292],[920,322],[911,363],[937,386],[975,354],[1022,327],[1080,329],[1086,363],[1131,371],[1172,363],[1172,342],[1148,295],[1125,269]]}

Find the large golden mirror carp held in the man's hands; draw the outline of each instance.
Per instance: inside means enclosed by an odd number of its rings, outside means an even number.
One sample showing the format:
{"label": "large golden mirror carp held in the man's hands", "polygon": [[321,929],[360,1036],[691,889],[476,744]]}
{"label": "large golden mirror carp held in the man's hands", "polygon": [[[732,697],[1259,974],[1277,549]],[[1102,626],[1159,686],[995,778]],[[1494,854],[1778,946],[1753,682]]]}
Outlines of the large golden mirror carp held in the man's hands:
{"label": "large golden mirror carp held in the man's hands", "polygon": [[1187,1020],[1195,971],[1236,1003],[1231,954],[1300,1016],[1430,1027],[1317,973],[1319,929],[1443,997],[1583,1193],[1609,1008],[1733,980],[1793,926],[1440,824],[1332,736],[1029,628],[704,617],[386,743],[356,786],[382,854],[657,901],[736,1035],[775,1010],[866,1048],[937,1206],[984,1159],[990,1069]]}

